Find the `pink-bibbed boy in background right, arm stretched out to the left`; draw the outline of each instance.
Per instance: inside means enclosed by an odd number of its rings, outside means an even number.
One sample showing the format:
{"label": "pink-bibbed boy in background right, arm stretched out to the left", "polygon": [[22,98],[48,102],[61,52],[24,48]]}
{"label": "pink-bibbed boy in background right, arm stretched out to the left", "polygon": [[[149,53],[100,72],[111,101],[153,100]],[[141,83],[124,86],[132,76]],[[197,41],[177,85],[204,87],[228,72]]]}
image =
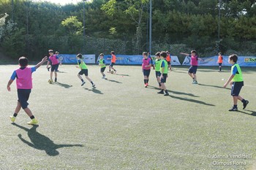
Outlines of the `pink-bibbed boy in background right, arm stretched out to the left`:
{"label": "pink-bibbed boy in background right, arm stretched out to the left", "polygon": [[190,59],[190,64],[191,66],[189,67],[189,76],[192,77],[193,79],[193,82],[192,84],[197,84],[197,76],[196,76],[196,73],[197,73],[197,66],[198,66],[198,60],[199,61],[203,61],[202,58],[199,58],[197,56],[197,52],[195,50],[192,50],[191,51],[191,54],[189,55],[188,53],[181,53],[182,55],[186,55],[186,56],[189,56],[191,59]]}

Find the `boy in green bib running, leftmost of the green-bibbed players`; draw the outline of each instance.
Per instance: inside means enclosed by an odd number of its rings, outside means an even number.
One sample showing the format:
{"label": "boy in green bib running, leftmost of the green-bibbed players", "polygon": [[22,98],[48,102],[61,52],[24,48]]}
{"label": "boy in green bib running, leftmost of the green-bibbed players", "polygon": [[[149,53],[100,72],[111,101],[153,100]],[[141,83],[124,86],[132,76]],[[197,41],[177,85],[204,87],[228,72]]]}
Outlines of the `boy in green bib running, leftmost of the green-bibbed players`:
{"label": "boy in green bib running, leftmost of the green-bibbed players", "polygon": [[78,66],[76,66],[78,69],[81,69],[81,71],[78,73],[78,78],[82,81],[82,85],[86,84],[85,81],[83,81],[83,78],[82,78],[82,75],[85,74],[86,76],[86,79],[89,80],[89,82],[91,82],[91,85],[92,87],[94,88],[95,87],[95,84],[94,82],[91,81],[91,79],[88,77],[88,69],[87,69],[87,66],[86,66],[86,63],[84,63],[83,61],[83,55],[82,54],[78,54],[77,55],[77,60],[78,60]]}

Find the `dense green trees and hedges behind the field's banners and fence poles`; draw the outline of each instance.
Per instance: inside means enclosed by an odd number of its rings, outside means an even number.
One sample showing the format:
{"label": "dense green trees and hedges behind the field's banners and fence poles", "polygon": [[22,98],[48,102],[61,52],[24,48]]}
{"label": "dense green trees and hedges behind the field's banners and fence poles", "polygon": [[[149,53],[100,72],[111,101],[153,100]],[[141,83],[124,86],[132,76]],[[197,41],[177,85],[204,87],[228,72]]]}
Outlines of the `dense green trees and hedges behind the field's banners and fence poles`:
{"label": "dense green trees and hedges behind the field's banners and fence poles", "polygon": [[[215,55],[219,0],[152,1],[152,53],[196,49]],[[148,50],[147,0],[94,0],[59,6],[49,2],[0,0],[1,50],[16,58],[37,58],[52,48],[61,53],[138,54]],[[220,50],[239,55],[256,53],[254,0],[221,0]],[[12,21],[13,18],[13,21]],[[83,35],[85,34],[85,36]],[[83,39],[85,37],[85,39]]]}

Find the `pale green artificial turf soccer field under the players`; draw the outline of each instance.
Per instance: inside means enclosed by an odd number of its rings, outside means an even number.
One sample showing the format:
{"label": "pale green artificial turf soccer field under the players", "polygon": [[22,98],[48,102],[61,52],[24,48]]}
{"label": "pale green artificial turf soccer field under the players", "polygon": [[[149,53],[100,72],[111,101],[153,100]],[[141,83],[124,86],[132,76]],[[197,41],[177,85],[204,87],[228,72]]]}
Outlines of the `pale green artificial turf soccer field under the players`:
{"label": "pale green artificial turf soccer field under the players", "polygon": [[11,92],[6,85],[17,67],[0,66],[0,169],[256,169],[255,68],[241,68],[248,106],[228,112],[230,67],[199,67],[192,85],[188,67],[173,66],[163,96],[154,70],[144,88],[140,66],[115,66],[102,80],[89,65],[92,88],[80,86],[74,65],[60,66],[50,85],[44,65],[33,73],[31,126],[23,110],[9,119],[18,97],[15,82]]}

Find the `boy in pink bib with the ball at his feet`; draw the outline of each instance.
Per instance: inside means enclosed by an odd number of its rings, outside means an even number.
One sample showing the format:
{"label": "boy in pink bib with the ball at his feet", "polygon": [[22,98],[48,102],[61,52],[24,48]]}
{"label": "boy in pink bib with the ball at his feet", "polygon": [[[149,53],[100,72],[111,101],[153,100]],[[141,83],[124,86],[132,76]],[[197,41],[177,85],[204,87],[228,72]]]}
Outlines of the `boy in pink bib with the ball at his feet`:
{"label": "boy in pink bib with the ball at his feet", "polygon": [[54,72],[54,75],[55,75],[55,79],[54,79],[54,82],[57,82],[57,72],[58,72],[58,68],[59,68],[59,57],[57,55],[53,55],[53,50],[48,50],[49,52],[49,59],[48,59],[48,62],[47,62],[47,66],[46,68],[49,69],[49,64],[51,65],[50,66],[50,81],[53,82],[53,72]]}

